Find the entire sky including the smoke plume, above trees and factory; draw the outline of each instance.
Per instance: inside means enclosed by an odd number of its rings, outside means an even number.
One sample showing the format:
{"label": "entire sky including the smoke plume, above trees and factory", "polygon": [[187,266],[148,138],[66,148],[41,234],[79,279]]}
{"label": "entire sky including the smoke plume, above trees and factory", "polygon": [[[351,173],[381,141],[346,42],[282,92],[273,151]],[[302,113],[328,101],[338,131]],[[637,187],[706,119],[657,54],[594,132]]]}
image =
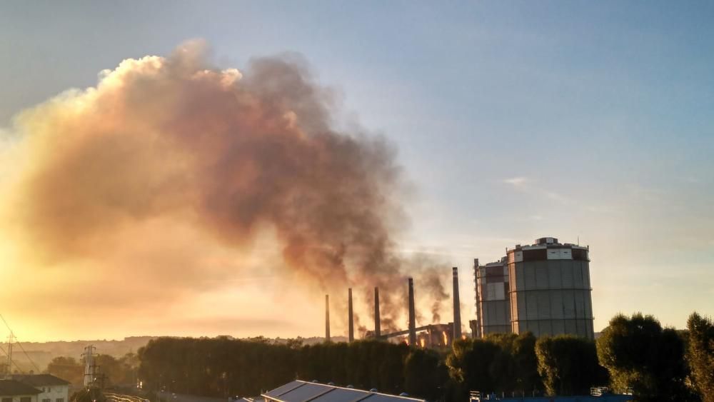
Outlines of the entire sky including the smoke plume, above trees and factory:
{"label": "entire sky including the smoke plume, above trees and factory", "polygon": [[714,315],[712,17],[2,4],[0,313],[21,341],[321,336],[327,289],[341,335],[347,283],[367,329],[376,283],[406,327],[411,275],[451,321],[458,266],[466,326],[473,258],[553,236],[590,246],[595,331],[683,328]]}

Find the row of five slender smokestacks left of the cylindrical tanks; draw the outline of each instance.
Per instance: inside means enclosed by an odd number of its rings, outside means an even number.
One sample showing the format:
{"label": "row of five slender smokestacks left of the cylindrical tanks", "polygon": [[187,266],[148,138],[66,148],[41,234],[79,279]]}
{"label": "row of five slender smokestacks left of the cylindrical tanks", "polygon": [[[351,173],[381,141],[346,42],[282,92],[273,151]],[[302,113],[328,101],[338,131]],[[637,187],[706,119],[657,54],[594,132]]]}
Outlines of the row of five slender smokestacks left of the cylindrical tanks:
{"label": "row of five slender smokestacks left of the cylindrical tanks", "polygon": [[[452,268],[453,276],[453,338],[461,338],[461,303],[458,297],[458,268]],[[354,312],[352,302],[352,288],[348,289],[348,341],[354,341]],[[374,336],[382,338],[381,319],[379,313],[379,288],[374,288]],[[388,336],[388,334],[387,334]],[[325,339],[330,341],[330,296],[325,295]],[[414,280],[408,278],[408,342],[416,344],[416,306],[414,300]]]}

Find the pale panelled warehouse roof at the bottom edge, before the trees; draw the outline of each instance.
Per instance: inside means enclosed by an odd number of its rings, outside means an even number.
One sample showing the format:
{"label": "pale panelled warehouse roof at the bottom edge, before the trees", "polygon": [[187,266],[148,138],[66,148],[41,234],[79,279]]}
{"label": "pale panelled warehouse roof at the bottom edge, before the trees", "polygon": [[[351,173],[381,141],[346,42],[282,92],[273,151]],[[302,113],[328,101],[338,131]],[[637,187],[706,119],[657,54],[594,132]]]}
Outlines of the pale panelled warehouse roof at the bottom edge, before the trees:
{"label": "pale panelled warehouse roof at the bottom edge, before the trees", "polygon": [[404,402],[420,401],[423,399],[408,398],[406,396],[388,395],[374,391],[363,391],[354,388],[343,388],[321,383],[308,383],[307,381],[296,380],[286,383],[283,386],[263,393],[263,397],[268,401],[277,402]]}

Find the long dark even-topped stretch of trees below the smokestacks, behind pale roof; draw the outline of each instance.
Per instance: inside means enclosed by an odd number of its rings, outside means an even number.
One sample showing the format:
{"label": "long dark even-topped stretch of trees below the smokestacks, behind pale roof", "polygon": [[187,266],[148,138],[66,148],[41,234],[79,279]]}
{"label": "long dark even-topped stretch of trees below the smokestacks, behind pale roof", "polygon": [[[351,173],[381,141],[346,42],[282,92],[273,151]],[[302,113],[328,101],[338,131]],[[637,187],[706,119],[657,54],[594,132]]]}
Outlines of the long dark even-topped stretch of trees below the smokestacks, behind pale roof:
{"label": "long dark even-topped stretch of trees below the smokestacks, behind pale roof", "polygon": [[435,397],[446,378],[435,352],[380,341],[301,346],[264,338],[159,338],[139,357],[147,388],[206,396],[255,396],[301,378]]}

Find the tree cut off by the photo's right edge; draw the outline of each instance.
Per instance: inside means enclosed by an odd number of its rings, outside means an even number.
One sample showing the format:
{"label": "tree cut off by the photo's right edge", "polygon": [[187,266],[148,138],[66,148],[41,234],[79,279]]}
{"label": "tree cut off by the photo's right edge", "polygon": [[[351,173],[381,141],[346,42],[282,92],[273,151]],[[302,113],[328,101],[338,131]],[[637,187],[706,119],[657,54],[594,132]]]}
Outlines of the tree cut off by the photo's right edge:
{"label": "tree cut off by the photo's right edge", "polygon": [[714,402],[714,321],[692,313],[687,328],[687,357],[695,386],[704,402]]}

